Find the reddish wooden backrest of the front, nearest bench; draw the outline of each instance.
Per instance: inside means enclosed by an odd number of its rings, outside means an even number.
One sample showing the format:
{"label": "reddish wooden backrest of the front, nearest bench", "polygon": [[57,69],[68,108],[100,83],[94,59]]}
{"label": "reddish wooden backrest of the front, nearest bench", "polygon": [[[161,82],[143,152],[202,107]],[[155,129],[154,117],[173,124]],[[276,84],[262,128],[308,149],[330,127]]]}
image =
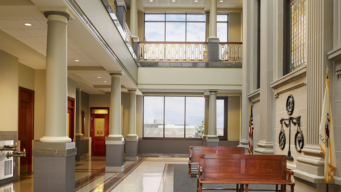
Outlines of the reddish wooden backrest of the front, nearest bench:
{"label": "reddish wooden backrest of the front, nearest bench", "polygon": [[285,155],[199,154],[202,178],[286,180]]}

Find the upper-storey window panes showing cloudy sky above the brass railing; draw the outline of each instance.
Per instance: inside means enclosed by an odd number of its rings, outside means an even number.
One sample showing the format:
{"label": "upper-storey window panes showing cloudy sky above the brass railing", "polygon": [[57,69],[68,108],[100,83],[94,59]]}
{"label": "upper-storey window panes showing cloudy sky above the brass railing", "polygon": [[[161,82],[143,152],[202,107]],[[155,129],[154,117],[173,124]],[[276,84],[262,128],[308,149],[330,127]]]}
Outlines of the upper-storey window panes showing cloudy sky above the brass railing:
{"label": "upper-storey window panes showing cloudy sky above the brass railing", "polygon": [[[217,35],[227,41],[228,15],[217,15]],[[144,41],[206,42],[205,15],[145,14]]]}

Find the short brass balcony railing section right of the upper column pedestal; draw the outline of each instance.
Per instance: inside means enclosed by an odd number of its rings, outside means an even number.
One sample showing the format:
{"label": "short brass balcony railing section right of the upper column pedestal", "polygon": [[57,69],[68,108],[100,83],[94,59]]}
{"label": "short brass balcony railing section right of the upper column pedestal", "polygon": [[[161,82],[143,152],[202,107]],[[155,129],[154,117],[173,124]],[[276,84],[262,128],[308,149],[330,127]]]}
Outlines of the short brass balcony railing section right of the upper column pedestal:
{"label": "short brass balcony railing section right of the upper column pedestal", "polygon": [[220,42],[219,59],[226,62],[242,61],[242,42]]}

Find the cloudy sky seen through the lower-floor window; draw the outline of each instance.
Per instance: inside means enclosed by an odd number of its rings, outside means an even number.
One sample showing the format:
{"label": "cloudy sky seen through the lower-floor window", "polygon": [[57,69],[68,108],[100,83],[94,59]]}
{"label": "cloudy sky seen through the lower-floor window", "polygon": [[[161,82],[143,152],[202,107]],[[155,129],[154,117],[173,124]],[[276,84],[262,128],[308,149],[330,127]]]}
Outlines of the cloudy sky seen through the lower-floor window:
{"label": "cloudy sky seen through the lower-floor window", "polygon": [[[165,124],[184,123],[184,97],[165,97]],[[203,97],[186,97],[186,124],[201,123],[205,114]],[[163,121],[163,97],[144,97],[144,123],[153,123],[154,119]],[[217,100],[217,128],[224,128],[224,100]]]}

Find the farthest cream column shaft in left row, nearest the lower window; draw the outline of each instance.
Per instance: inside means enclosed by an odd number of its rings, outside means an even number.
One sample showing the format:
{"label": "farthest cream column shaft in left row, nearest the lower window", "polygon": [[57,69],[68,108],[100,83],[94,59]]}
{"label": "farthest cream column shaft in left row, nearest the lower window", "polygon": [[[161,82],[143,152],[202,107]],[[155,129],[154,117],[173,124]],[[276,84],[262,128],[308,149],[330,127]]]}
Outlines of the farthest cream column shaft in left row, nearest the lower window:
{"label": "farthest cream column shaft in left row, nearest the lower window", "polygon": [[136,90],[129,90],[129,137],[137,137],[136,135]]}

